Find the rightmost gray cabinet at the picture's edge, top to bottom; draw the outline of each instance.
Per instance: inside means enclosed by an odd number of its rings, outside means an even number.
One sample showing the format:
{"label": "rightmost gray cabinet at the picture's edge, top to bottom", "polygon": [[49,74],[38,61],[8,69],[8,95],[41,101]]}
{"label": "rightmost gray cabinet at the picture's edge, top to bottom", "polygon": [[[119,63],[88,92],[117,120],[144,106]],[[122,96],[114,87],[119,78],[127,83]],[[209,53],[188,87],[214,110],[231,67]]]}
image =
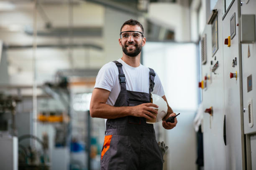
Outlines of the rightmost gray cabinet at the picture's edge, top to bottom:
{"label": "rightmost gray cabinet at the picture's edge, top to bottom", "polygon": [[252,32],[250,33],[251,37],[248,35],[247,39],[251,39],[252,41],[241,44],[244,108],[243,128],[246,134],[246,163],[248,170],[256,170],[256,44],[253,42],[253,40],[255,41],[256,34],[255,9],[256,0],[250,0],[241,6],[241,17],[253,18],[253,20],[247,20],[246,23],[247,29]]}

